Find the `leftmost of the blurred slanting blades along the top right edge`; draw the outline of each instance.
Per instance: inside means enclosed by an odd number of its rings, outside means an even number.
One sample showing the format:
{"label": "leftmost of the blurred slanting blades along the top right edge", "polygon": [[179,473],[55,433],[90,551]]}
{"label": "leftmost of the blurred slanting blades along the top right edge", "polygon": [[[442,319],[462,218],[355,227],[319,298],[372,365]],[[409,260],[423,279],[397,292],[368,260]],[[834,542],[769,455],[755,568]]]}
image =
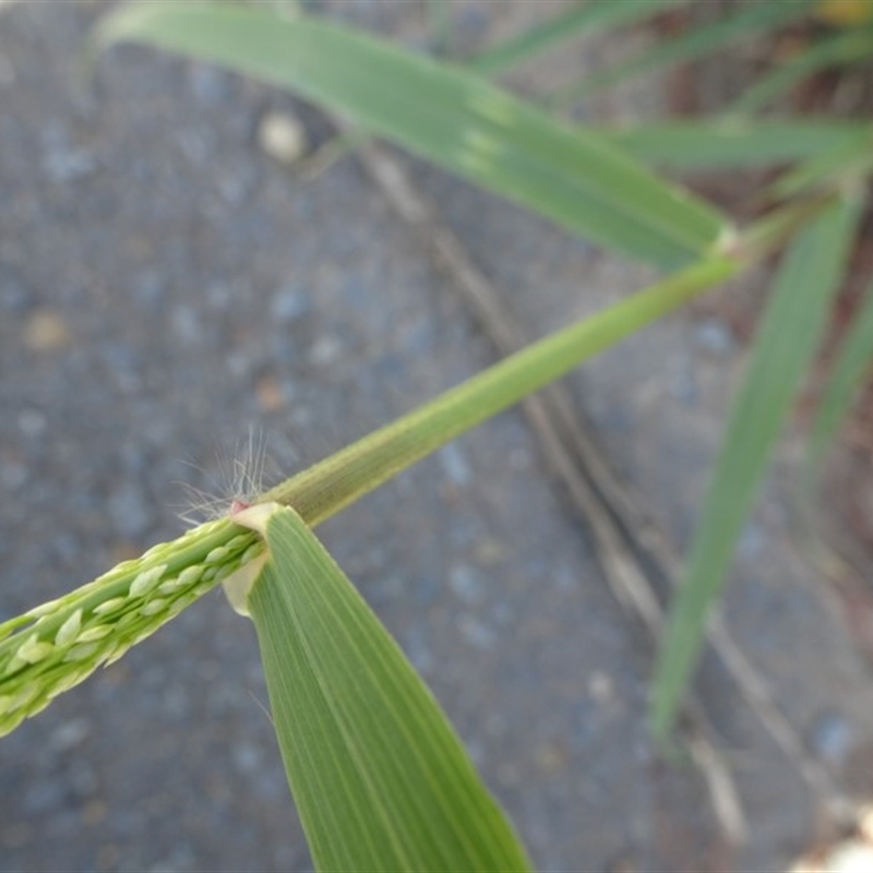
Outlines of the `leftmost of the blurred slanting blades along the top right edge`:
{"label": "leftmost of the blurred slanting blades along the top right edge", "polygon": [[524,63],[573,37],[609,27],[626,26],[687,2],[689,0],[647,0],[636,3],[605,3],[589,0],[572,7],[543,24],[528,28],[499,46],[486,49],[470,58],[468,65],[483,75],[493,75],[510,67]]}

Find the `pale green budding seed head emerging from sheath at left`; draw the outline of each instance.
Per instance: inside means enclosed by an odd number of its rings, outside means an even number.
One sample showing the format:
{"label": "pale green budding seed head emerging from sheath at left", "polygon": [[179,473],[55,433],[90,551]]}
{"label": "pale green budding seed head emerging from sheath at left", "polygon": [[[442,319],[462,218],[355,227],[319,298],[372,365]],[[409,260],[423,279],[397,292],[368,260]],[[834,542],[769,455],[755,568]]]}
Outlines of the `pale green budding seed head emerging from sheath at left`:
{"label": "pale green budding seed head emerging from sheath at left", "polygon": [[0,737],[256,558],[263,543],[238,530],[201,525],[0,624]]}

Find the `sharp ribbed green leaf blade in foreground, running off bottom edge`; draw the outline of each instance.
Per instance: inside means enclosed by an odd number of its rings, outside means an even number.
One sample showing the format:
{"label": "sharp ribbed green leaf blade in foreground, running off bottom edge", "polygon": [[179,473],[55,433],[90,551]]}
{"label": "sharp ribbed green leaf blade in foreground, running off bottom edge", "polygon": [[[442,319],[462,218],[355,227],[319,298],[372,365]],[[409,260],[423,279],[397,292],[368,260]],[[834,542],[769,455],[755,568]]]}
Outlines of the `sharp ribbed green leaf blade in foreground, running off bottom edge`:
{"label": "sharp ribbed green leaf blade in foreground, running off bottom edge", "polygon": [[524,849],[400,648],[276,507],[249,595],[286,773],[323,871],[526,871]]}

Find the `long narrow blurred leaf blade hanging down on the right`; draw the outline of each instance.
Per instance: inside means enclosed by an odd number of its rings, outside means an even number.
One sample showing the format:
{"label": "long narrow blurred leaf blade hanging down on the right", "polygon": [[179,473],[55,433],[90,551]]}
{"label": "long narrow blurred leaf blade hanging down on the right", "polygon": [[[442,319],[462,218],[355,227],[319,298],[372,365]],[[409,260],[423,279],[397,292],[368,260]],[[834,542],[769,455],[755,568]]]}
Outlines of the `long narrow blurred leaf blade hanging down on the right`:
{"label": "long narrow blurred leaf blade hanging down on the right", "polygon": [[701,649],[707,610],[827,322],[858,215],[854,203],[827,207],[792,240],[779,268],[658,653],[649,715],[659,739],[672,727]]}

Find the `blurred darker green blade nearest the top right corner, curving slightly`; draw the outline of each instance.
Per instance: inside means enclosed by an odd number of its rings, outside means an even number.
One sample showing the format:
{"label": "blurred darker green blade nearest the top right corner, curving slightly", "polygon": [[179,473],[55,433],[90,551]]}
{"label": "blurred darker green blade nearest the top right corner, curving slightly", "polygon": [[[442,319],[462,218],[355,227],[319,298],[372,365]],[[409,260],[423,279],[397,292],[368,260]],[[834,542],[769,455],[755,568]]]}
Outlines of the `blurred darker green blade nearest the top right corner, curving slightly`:
{"label": "blurred darker green blade nearest the top right corner, curving slightly", "polygon": [[813,73],[830,67],[846,67],[872,55],[873,26],[824,37],[758,79],[730,105],[728,112],[754,112],[791,91]]}

